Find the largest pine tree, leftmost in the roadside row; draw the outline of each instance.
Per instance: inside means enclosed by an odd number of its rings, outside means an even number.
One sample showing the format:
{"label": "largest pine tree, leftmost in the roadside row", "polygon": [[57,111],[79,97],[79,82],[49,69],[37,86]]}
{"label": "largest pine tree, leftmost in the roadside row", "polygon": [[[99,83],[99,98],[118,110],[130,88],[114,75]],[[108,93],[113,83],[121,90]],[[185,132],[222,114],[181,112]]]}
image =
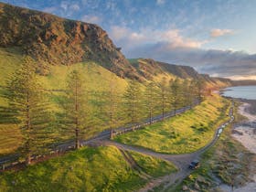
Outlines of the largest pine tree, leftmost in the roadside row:
{"label": "largest pine tree, leftmost in the roadside row", "polygon": [[6,82],[3,97],[8,101],[9,117],[13,117],[23,135],[22,154],[26,163],[43,148],[48,137],[50,116],[46,93],[37,81],[36,63],[25,57],[21,68]]}

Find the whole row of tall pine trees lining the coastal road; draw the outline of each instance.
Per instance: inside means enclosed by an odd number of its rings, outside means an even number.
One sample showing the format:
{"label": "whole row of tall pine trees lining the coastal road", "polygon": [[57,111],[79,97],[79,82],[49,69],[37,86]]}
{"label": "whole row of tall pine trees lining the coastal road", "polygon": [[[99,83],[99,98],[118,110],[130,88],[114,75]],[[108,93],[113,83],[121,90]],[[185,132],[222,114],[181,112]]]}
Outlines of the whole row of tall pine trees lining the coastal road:
{"label": "whole row of tall pine trees lining the coastal road", "polygon": [[[20,69],[6,81],[1,93],[8,105],[1,107],[0,115],[1,123],[15,123],[21,130],[24,141],[21,151],[27,165],[32,155],[44,153],[48,144],[58,141],[59,135],[73,139],[79,148],[80,140],[91,129],[99,133],[101,127],[113,130],[125,123],[134,127],[145,119],[152,123],[155,115],[161,115],[164,120],[166,112],[176,112],[203,99],[202,80],[164,78],[160,83],[145,85],[131,80],[124,93],[119,91],[114,79],[109,82],[107,91],[99,93],[101,99],[95,101],[94,97],[93,101],[81,71],[71,71],[67,88],[58,101],[61,110],[53,112],[52,95],[37,80],[37,64],[29,57],[23,59]],[[93,107],[101,111],[101,122],[97,121]]]}

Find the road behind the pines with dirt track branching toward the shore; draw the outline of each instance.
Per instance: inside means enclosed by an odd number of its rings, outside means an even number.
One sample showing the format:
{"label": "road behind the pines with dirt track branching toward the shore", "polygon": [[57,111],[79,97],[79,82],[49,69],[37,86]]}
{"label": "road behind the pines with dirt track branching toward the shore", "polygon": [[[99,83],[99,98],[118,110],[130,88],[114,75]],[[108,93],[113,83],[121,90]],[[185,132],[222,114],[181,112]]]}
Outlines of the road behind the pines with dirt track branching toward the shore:
{"label": "road behind the pines with dirt track branching toward the shore", "polygon": [[[197,103],[198,104],[198,103]],[[128,144],[120,144],[120,143],[116,143],[110,140],[110,135],[111,135],[111,131],[104,131],[100,134],[98,134],[97,136],[95,136],[94,138],[91,138],[90,140],[87,141],[82,141],[80,142],[80,145],[87,145],[87,144],[92,144],[92,145],[114,145],[117,148],[119,148],[121,151],[135,151],[135,152],[139,152],[142,153],[144,155],[151,155],[160,159],[164,159],[166,161],[169,161],[171,163],[173,163],[174,165],[176,165],[176,167],[178,168],[178,171],[176,173],[167,175],[167,176],[162,176],[162,177],[158,177],[158,178],[153,178],[151,179],[148,184],[142,188],[140,191],[144,192],[144,191],[148,191],[150,189],[153,189],[154,187],[158,187],[159,185],[164,185],[164,189],[167,187],[171,187],[171,186],[175,186],[174,184],[178,184],[179,182],[181,182],[185,177],[187,177],[190,173],[191,170],[188,169],[188,165],[189,163],[194,160],[194,159],[200,159],[200,155],[202,155],[206,150],[208,150],[209,147],[211,147],[213,144],[215,144],[218,141],[219,138],[219,134],[222,132],[222,130],[234,120],[234,116],[233,116],[233,107],[234,107],[234,103],[232,102],[232,106],[230,107],[230,111],[229,111],[229,118],[230,120],[227,123],[223,123],[221,126],[219,126],[219,128],[216,130],[215,135],[213,137],[213,139],[203,148],[197,150],[194,153],[191,154],[183,154],[183,155],[166,155],[166,154],[160,154],[160,153],[156,153],[154,151],[151,151],[149,149],[145,149],[143,147],[138,147],[138,146],[132,146],[132,145],[128,145]],[[175,116],[176,114],[179,113],[183,113],[183,112],[187,112],[187,110],[191,109],[190,107],[184,107],[181,109],[176,110],[176,112],[168,112],[165,115],[165,118],[170,118]],[[156,116],[153,119],[153,123],[155,122],[159,122],[162,121],[162,115]],[[144,123],[140,123],[137,124],[135,129],[140,129],[142,127],[144,127],[145,125],[149,124],[150,120],[145,120]],[[121,127],[118,129],[115,129],[115,134],[120,134],[120,133],[126,133],[126,132],[131,132],[133,131],[133,127],[132,126],[128,126],[128,127]],[[68,151],[69,149],[74,147],[74,142],[67,142],[65,144],[59,144],[57,146],[54,147],[54,151],[53,152],[65,152]],[[5,156],[0,158],[0,165],[2,165],[4,167],[6,162],[14,162],[14,158],[17,158],[17,155],[12,155],[12,156]],[[12,163],[13,165],[14,163]]]}

